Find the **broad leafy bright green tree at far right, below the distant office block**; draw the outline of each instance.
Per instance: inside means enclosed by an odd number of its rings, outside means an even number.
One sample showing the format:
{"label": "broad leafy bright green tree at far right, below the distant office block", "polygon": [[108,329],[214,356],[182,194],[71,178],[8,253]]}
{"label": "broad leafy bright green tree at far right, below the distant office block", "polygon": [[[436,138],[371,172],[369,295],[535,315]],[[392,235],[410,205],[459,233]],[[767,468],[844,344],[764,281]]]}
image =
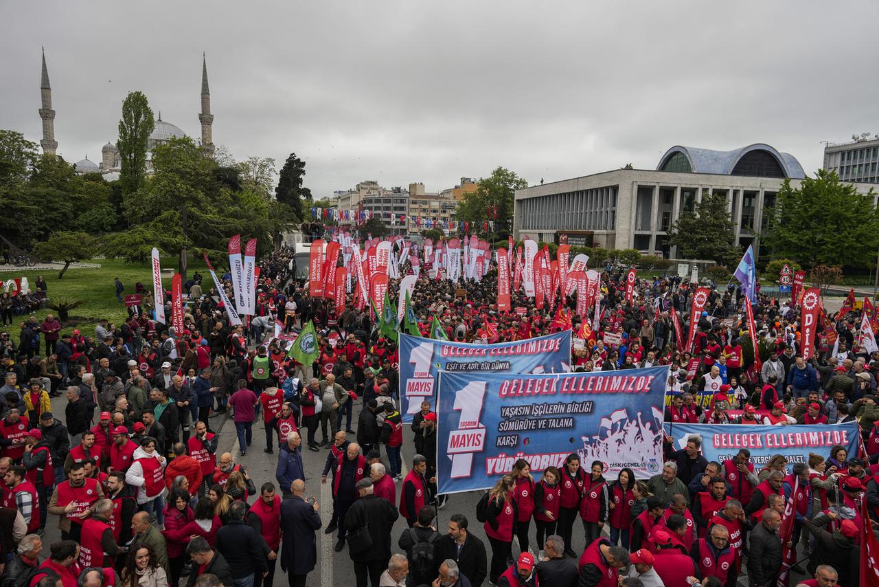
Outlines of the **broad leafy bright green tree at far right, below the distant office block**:
{"label": "broad leafy bright green tree at far right, below the distant office block", "polygon": [[879,212],[874,192],[859,194],[836,172],[818,170],[800,187],[784,184],[769,215],[766,245],[774,257],[793,259],[803,267],[867,267],[879,246]]}

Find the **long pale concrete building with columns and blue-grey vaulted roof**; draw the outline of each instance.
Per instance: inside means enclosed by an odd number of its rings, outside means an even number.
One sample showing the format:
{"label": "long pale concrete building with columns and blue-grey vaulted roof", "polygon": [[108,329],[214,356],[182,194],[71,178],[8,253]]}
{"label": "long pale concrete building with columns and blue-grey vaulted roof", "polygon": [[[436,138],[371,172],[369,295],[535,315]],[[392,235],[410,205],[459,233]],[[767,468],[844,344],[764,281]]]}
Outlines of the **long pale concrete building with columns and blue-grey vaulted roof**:
{"label": "long pale concrete building with columns and blue-grey vaulted roof", "polygon": [[[516,191],[513,234],[545,242],[567,235],[571,245],[635,248],[677,257],[668,232],[704,194],[723,194],[737,244],[753,245],[766,231],[766,210],[785,179],[806,177],[788,153],[764,143],[720,151],[674,146],[655,170],[618,169]],[[858,191],[870,187],[858,184]]]}

